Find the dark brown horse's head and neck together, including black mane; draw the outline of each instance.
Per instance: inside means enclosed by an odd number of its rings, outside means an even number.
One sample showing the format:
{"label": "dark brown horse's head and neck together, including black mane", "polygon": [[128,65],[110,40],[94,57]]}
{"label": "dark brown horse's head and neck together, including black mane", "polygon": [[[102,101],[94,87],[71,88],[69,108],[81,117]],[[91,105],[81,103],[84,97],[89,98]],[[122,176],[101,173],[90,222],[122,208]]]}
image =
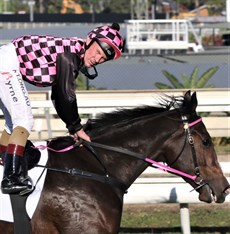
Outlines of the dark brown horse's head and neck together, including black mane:
{"label": "dark brown horse's head and neck together, including black mane", "polygon": [[100,150],[110,175],[130,186],[147,167],[143,161],[148,157],[191,175],[193,179],[180,174],[199,192],[201,201],[224,202],[230,186],[196,113],[197,103],[196,93],[188,91],[182,97],[166,98],[161,107],[121,109],[92,120],[92,141],[135,152],[141,158],[111,147]]}

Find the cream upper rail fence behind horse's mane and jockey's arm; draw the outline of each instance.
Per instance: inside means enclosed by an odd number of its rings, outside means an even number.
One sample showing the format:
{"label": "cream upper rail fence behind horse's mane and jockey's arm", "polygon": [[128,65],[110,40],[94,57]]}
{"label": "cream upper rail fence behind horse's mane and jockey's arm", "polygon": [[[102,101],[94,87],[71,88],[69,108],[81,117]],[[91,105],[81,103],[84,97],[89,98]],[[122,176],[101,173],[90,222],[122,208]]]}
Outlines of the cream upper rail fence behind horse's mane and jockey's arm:
{"label": "cream upper rail fence behind horse's mane and jockey's arm", "polygon": [[[94,118],[102,112],[117,108],[133,108],[140,105],[158,105],[162,95],[182,95],[185,90],[153,91],[78,91],[78,107],[81,115]],[[65,134],[65,124],[56,116],[56,111],[49,99],[49,92],[31,92],[35,125],[32,140],[45,140]],[[203,121],[212,137],[230,136],[230,89],[197,90],[197,112],[208,112]],[[1,112],[0,112],[1,115]],[[84,118],[84,116],[83,116]],[[4,120],[0,119],[3,129]]]}

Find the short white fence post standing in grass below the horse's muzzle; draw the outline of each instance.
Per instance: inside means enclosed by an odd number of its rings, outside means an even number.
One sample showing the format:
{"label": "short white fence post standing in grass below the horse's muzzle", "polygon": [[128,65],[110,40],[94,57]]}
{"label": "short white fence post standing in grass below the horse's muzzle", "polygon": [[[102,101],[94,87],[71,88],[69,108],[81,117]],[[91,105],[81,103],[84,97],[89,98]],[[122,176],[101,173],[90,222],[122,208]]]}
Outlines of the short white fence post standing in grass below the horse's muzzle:
{"label": "short white fence post standing in grass below the horse's muzzle", "polygon": [[181,233],[191,234],[188,203],[180,203]]}

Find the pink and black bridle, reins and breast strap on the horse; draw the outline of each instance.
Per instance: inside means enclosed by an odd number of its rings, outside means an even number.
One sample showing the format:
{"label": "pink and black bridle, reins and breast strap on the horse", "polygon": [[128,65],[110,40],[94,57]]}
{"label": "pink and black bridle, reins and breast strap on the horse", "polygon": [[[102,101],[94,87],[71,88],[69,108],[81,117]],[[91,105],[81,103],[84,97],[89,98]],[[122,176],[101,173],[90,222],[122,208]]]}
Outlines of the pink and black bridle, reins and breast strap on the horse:
{"label": "pink and black bridle, reins and breast strap on the horse", "polygon": [[[198,190],[199,188],[206,185],[207,182],[204,181],[203,177],[200,174],[199,165],[198,165],[198,162],[197,162],[196,151],[195,151],[195,147],[194,147],[194,139],[193,139],[193,136],[191,134],[191,129],[190,128],[193,127],[194,125],[202,122],[202,118],[199,117],[197,120],[195,120],[193,122],[189,122],[186,116],[182,116],[182,122],[183,122],[184,130],[185,130],[185,133],[186,133],[185,141],[187,140],[187,142],[189,143],[190,148],[191,148],[192,159],[193,159],[193,162],[194,162],[194,174],[195,175],[190,175],[190,174],[184,173],[184,172],[182,172],[180,170],[174,169],[174,168],[172,168],[170,166],[167,166],[167,165],[165,165],[163,163],[156,162],[151,158],[144,157],[140,153],[132,152],[132,151],[129,151],[127,149],[113,147],[113,146],[109,146],[109,145],[105,145],[105,144],[101,144],[101,143],[97,143],[97,142],[87,142],[87,141],[84,141],[84,140],[80,140],[79,142],[77,142],[77,143],[75,143],[73,145],[70,145],[70,146],[68,146],[68,147],[66,147],[64,149],[61,149],[61,150],[55,150],[53,148],[50,148],[49,146],[44,146],[44,145],[37,146],[36,148],[38,148],[38,149],[45,149],[46,148],[46,149],[48,149],[50,151],[60,153],[60,152],[66,152],[66,151],[69,151],[69,150],[74,149],[76,147],[79,147],[79,145],[83,145],[96,157],[96,159],[103,166],[105,175],[99,175],[99,174],[91,173],[91,172],[88,172],[88,171],[82,171],[82,170],[78,170],[76,168],[73,168],[73,169],[57,169],[57,168],[51,168],[51,167],[48,167],[48,166],[41,166],[41,165],[37,165],[37,166],[38,167],[43,167],[43,168],[48,169],[48,170],[56,171],[56,172],[68,173],[68,174],[71,174],[71,175],[77,175],[77,176],[86,177],[86,178],[90,178],[90,179],[93,179],[93,180],[101,181],[101,182],[104,182],[104,183],[108,183],[110,185],[114,185],[115,187],[118,187],[119,189],[125,191],[128,188],[128,186],[126,186],[119,179],[116,179],[116,178],[113,178],[113,177],[109,176],[109,174],[107,173],[106,168],[104,167],[104,165],[100,161],[96,151],[94,150],[94,147],[96,147],[96,148],[101,148],[101,149],[105,149],[105,150],[108,150],[108,151],[113,151],[113,152],[117,152],[117,153],[121,153],[121,154],[125,154],[125,155],[128,155],[128,156],[134,157],[136,159],[145,161],[146,163],[148,163],[148,166],[151,166],[151,167],[154,167],[154,168],[157,168],[157,169],[160,169],[160,170],[172,173],[172,174],[176,174],[176,175],[180,175],[182,177],[188,178],[188,179],[192,180],[197,185],[197,187],[194,188],[193,190]],[[181,153],[183,152],[183,150],[184,150],[184,147],[182,148]]]}

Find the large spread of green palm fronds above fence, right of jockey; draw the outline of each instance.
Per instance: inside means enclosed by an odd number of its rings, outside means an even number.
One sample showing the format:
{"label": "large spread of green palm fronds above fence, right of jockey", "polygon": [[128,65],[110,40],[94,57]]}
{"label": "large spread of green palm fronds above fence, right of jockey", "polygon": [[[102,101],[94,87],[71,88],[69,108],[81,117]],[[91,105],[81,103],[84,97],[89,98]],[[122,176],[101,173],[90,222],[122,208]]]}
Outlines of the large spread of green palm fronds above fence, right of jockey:
{"label": "large spread of green palm fronds above fence, right of jockey", "polygon": [[207,83],[218,69],[219,67],[212,67],[198,77],[199,68],[195,67],[190,77],[185,73],[182,74],[181,79],[183,83],[181,83],[173,74],[163,70],[163,75],[169,80],[172,86],[160,82],[156,82],[155,86],[158,89],[214,88],[214,85],[208,85]]}

